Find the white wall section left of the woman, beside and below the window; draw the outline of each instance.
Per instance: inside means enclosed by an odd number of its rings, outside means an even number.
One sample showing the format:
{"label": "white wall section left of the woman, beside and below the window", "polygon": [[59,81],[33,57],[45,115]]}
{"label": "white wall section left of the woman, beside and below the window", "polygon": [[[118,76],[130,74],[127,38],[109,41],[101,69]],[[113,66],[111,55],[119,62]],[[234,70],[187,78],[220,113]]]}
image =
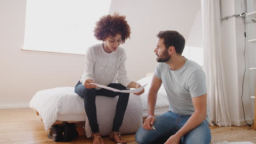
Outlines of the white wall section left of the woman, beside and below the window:
{"label": "white wall section left of the woman, beside and below the window", "polygon": [[0,1],[0,109],[28,107],[37,91],[74,86],[83,73],[83,55],[21,50],[25,13],[25,0]]}

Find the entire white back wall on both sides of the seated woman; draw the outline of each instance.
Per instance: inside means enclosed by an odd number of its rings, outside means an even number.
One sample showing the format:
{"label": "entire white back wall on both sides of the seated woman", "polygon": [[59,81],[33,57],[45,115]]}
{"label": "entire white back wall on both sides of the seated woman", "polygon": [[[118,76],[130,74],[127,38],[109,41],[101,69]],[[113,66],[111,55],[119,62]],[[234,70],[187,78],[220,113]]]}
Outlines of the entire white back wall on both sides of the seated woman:
{"label": "entire white back wall on both sides of the seated woman", "polygon": [[[176,30],[188,39],[200,9],[200,0],[113,0],[109,13],[126,15],[132,31],[122,45],[128,77],[136,81],[154,71],[159,31]],[[0,109],[28,107],[37,91],[73,87],[83,73],[83,55],[21,50],[25,14],[26,0],[0,1]]]}

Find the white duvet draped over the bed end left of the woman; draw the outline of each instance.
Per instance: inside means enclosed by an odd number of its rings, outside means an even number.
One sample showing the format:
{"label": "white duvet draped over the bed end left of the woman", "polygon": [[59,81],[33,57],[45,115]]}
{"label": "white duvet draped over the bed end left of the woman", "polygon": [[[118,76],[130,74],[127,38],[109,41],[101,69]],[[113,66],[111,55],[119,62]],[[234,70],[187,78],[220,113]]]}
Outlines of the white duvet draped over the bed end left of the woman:
{"label": "white duvet draped over the bed end left of the woman", "polygon": [[57,87],[38,91],[30,101],[30,107],[40,114],[45,130],[55,123],[59,115],[86,114],[84,100],[74,93],[74,87]]}

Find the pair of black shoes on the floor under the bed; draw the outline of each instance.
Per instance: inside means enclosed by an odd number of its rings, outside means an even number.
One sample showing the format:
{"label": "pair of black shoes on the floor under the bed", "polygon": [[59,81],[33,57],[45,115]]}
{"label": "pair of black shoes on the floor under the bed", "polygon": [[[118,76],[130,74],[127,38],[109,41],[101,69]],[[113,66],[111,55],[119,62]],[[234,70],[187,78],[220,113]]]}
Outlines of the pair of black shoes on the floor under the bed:
{"label": "pair of black shoes on the floor under the bed", "polygon": [[65,126],[61,127],[60,125],[54,125],[51,127],[48,135],[50,139],[53,139],[55,142],[60,141],[72,141],[79,136],[77,127],[74,123],[67,123]]}

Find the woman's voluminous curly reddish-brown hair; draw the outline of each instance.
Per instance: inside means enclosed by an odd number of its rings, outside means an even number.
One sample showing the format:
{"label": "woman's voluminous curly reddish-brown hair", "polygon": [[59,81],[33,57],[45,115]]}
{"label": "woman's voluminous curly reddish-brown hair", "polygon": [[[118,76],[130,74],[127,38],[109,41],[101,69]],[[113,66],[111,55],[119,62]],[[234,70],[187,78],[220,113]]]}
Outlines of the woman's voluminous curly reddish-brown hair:
{"label": "woman's voluminous curly reddish-brown hair", "polygon": [[109,36],[115,37],[117,34],[122,35],[122,44],[125,43],[127,38],[130,38],[131,28],[124,15],[119,15],[118,13],[105,15],[96,22],[94,36],[97,40],[106,40]]}

